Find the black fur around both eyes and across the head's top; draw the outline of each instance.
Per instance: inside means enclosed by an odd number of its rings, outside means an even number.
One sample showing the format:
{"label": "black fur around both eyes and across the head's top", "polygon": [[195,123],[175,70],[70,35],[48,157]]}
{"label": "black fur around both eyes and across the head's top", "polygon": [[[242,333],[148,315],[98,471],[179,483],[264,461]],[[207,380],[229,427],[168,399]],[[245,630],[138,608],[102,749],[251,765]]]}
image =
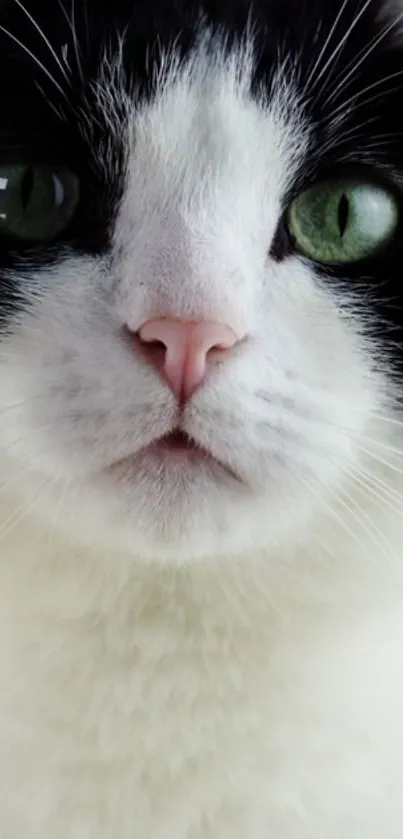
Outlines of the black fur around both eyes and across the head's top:
{"label": "black fur around both eyes and across the head's top", "polygon": [[[392,185],[403,218],[403,38],[400,46],[397,22],[391,28],[390,21],[380,21],[378,0],[76,0],[73,5],[71,0],[25,0],[24,9],[16,0],[0,4],[0,26],[7,30],[0,31],[0,161],[63,163],[80,176],[82,192],[75,218],[55,242],[46,247],[0,242],[4,322],[21,303],[12,269],[18,267],[24,275],[33,263],[51,263],[66,248],[108,251],[122,190],[123,149],[114,137],[115,176],[108,178],[107,169],[97,166],[99,155],[93,154],[94,145],[98,149],[110,143],[93,84],[105,49],[116,49],[123,34],[127,89],[150,98],[152,69],[161,51],[175,44],[185,58],[200,26],[225,34],[228,48],[253,32],[255,95],[263,90],[270,98],[274,72],[286,58],[283,72],[293,75],[313,128],[309,155],[301,159],[287,200],[324,175],[359,166]],[[66,77],[29,15],[61,62],[68,45]],[[339,114],[345,111],[339,125],[332,118],[335,108]],[[55,109],[63,112],[63,119]],[[91,124],[87,134],[80,127],[82,112]],[[292,251],[283,219],[271,250],[276,259],[286,259]],[[328,281],[343,287],[348,282],[367,296],[375,328],[398,362],[403,356],[402,263],[403,235],[365,264],[326,271],[318,267]]]}

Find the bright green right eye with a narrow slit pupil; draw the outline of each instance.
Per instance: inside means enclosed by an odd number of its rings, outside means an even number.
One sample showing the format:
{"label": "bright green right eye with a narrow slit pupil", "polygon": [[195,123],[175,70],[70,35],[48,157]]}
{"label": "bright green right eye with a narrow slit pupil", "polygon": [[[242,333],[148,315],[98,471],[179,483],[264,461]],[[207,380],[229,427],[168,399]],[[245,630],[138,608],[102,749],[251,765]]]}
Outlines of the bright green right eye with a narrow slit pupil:
{"label": "bright green right eye with a narrow slit pupil", "polygon": [[392,239],[399,224],[396,197],[359,180],[323,181],[296,198],[290,233],[305,256],[336,264],[368,259]]}

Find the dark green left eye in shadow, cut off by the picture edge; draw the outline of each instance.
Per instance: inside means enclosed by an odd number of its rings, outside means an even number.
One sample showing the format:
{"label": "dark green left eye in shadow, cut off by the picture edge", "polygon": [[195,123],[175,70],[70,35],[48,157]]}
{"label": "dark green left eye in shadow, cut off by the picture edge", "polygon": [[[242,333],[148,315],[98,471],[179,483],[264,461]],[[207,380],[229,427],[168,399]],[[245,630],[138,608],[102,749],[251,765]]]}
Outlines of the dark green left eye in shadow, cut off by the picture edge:
{"label": "dark green left eye in shadow, cut off by the picture edge", "polygon": [[0,235],[48,242],[71,221],[79,181],[68,169],[0,165]]}

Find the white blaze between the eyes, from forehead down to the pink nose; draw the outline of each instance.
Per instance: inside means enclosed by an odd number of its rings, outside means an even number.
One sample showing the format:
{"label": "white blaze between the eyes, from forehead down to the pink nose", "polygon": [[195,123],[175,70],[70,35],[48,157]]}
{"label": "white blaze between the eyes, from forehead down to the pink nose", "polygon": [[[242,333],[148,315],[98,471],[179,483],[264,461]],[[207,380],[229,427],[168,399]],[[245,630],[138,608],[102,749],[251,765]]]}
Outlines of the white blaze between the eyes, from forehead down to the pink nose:
{"label": "white blaze between the eyes, from forehead down to the pink nose", "polygon": [[153,101],[133,104],[127,127],[113,251],[122,306],[132,328],[161,313],[217,319],[230,307],[244,331],[309,129],[281,67],[270,98],[252,96],[250,47],[226,60],[201,48],[163,67]]}

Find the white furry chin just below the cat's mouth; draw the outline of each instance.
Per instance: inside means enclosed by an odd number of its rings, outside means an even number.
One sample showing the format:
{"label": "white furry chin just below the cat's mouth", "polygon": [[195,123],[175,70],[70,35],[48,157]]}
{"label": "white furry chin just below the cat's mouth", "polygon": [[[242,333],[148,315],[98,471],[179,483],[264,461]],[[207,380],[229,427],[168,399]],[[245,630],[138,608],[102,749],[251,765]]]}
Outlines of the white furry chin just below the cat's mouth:
{"label": "white furry chin just below the cat's mouth", "polygon": [[251,489],[214,458],[150,451],[85,482],[70,520],[88,548],[182,565],[249,547],[253,504]]}

